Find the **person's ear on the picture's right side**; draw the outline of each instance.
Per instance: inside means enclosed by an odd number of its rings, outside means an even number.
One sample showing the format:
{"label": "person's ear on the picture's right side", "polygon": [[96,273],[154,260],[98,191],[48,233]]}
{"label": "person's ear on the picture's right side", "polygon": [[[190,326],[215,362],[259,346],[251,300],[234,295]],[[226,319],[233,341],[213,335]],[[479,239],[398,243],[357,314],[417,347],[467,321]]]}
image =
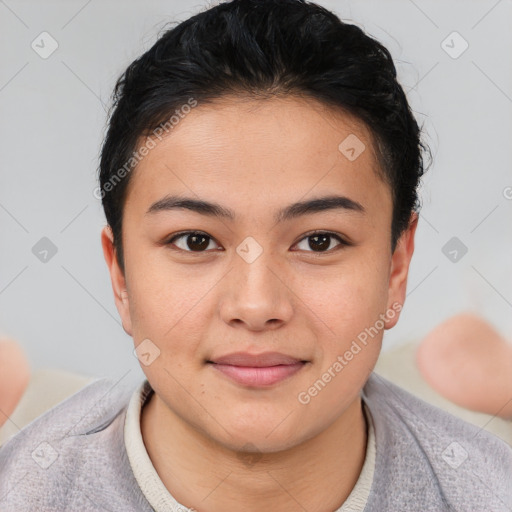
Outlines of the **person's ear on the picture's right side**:
{"label": "person's ear on the picture's right side", "polygon": [[[418,226],[418,214],[413,212],[409,220],[408,228],[402,233],[397,242],[395,252],[391,257],[391,270],[389,275],[388,288],[388,310],[397,311],[393,318],[387,318],[385,329],[393,328],[398,322],[400,311],[405,302],[405,292],[407,289],[407,276],[409,275],[409,264],[414,253],[414,235]],[[395,307],[393,307],[393,304]],[[397,309],[397,304],[400,308]]]}

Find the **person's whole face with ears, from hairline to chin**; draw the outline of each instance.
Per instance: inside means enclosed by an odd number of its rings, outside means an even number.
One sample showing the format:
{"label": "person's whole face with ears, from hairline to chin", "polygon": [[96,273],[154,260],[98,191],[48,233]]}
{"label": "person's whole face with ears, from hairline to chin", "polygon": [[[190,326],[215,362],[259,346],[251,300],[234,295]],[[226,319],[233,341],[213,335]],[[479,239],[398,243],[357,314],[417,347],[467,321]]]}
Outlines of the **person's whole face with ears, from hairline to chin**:
{"label": "person's whole face with ears, from hairline to chin", "polygon": [[391,254],[377,166],[363,123],[292,97],[198,105],[138,164],[124,275],[108,228],[102,243],[169,417],[273,452],[350,410],[398,320],[416,226]]}

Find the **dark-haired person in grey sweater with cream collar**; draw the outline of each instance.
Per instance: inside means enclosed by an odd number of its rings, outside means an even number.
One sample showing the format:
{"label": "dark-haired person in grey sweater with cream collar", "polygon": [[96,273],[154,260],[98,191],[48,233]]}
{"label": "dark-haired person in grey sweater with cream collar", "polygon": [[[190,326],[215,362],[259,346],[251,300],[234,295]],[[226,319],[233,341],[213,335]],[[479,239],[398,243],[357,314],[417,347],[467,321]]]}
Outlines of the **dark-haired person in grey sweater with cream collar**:
{"label": "dark-haired person in grey sweater with cream collar", "polygon": [[1,510],[512,507],[512,449],[372,373],[423,173],[389,52],[301,0],[234,0],[115,89],[105,260],[146,380],[0,451]]}

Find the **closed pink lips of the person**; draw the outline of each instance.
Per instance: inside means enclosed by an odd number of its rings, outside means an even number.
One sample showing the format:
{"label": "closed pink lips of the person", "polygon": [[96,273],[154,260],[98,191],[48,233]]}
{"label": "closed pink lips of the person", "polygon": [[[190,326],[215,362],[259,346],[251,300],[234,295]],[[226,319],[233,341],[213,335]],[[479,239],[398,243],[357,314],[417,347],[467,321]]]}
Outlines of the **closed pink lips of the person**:
{"label": "closed pink lips of the person", "polygon": [[249,387],[271,386],[305,366],[307,361],[279,352],[249,354],[235,352],[208,361],[230,380]]}

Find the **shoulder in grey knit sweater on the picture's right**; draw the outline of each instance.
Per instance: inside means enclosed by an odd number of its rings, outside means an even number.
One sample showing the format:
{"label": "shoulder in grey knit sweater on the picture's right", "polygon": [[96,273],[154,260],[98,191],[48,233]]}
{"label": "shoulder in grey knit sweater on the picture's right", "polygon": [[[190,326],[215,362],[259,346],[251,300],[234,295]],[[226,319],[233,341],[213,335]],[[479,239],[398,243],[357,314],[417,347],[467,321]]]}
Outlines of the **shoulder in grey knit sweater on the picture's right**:
{"label": "shoulder in grey knit sweater on the picture's right", "polygon": [[375,373],[363,397],[375,426],[377,487],[402,501],[422,493],[446,509],[512,508],[512,447],[503,440]]}

